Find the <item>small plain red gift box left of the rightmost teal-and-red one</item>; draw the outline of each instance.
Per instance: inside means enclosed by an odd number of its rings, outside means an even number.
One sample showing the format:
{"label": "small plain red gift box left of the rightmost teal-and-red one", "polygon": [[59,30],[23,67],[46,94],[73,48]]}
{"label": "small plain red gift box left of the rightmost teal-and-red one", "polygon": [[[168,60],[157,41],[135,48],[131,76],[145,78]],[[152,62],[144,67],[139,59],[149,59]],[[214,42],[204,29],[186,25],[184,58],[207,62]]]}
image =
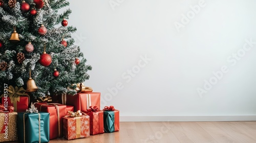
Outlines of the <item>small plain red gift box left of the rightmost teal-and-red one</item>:
{"label": "small plain red gift box left of the rightmost teal-and-red one", "polygon": [[104,133],[103,110],[99,110],[96,106],[90,106],[90,109],[84,113],[90,116],[90,135]]}

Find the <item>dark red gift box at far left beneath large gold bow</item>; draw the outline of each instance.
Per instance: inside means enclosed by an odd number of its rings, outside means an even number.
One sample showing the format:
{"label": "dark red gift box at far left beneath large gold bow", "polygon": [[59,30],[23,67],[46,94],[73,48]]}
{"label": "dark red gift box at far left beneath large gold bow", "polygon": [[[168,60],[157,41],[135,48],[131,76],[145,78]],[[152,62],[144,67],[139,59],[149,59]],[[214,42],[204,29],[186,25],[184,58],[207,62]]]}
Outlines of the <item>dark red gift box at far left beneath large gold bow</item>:
{"label": "dark red gift box at far left beneath large gold bow", "polygon": [[13,100],[13,103],[11,103],[9,97],[7,97],[7,100],[2,98],[2,103],[8,103],[8,106],[13,106],[15,112],[26,112],[29,108],[29,96],[18,96],[17,99]]}

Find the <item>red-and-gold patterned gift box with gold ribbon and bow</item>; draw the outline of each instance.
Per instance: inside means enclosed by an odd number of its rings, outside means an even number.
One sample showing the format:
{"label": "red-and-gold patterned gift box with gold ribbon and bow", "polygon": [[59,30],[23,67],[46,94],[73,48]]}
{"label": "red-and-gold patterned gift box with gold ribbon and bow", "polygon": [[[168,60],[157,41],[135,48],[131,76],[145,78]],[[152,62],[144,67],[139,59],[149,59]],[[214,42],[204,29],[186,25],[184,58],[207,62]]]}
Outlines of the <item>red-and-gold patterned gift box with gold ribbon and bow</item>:
{"label": "red-and-gold patterned gift box with gold ribbon and bow", "polygon": [[63,134],[68,140],[90,136],[89,115],[63,117]]}

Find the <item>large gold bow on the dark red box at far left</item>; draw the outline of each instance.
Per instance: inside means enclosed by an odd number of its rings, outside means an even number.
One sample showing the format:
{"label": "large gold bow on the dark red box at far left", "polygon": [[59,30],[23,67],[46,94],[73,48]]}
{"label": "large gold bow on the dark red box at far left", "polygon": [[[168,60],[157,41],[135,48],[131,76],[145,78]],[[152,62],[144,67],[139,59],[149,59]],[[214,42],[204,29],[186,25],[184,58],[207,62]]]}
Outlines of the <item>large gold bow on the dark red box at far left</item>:
{"label": "large gold bow on the dark red box at far left", "polygon": [[[17,86],[14,88],[12,85],[10,85],[8,88],[7,88],[7,91],[8,91],[8,97],[10,98],[11,100],[11,103],[13,104],[13,107],[14,107],[14,111],[17,111],[17,102],[19,102],[20,100],[20,96],[28,96],[28,94],[26,94],[26,90],[23,88],[23,87],[20,87],[18,88]],[[2,97],[5,97],[5,93],[2,94]],[[29,99],[30,101],[30,99]]]}

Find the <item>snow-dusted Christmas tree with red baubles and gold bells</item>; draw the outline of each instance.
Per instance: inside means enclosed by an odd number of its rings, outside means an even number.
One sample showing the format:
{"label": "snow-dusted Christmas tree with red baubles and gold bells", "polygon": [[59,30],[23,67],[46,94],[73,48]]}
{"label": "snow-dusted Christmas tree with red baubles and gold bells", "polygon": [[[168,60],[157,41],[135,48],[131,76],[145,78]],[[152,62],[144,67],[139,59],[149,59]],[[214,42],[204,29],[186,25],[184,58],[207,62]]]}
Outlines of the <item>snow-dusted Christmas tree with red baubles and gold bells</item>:
{"label": "snow-dusted Christmas tree with red baubles and gold bells", "polygon": [[[23,87],[34,98],[75,94],[76,83],[89,79],[92,67],[74,45],[76,28],[66,20],[71,10],[58,14],[66,6],[66,0],[0,0],[1,94],[4,84]],[[28,90],[30,71],[38,90]]]}

